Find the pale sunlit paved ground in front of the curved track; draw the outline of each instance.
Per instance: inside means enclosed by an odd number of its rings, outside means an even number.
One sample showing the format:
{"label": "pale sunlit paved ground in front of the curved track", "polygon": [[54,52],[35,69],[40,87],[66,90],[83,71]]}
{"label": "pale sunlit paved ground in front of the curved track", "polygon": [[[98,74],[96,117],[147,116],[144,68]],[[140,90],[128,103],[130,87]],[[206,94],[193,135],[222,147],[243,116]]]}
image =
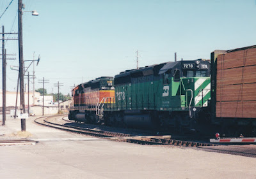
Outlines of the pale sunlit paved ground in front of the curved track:
{"label": "pale sunlit paved ground in front of the curved track", "polygon": [[[107,141],[39,126],[32,118],[26,123],[29,138],[40,142],[0,147],[0,178],[256,178],[255,158]],[[20,120],[8,118],[0,138],[17,131]]]}

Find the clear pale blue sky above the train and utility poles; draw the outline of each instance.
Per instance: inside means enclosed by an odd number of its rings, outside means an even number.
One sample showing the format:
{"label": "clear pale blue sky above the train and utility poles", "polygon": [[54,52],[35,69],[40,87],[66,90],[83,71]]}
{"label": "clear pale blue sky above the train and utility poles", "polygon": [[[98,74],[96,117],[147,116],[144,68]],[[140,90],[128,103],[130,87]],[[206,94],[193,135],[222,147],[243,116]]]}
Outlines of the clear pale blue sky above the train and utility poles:
{"label": "clear pale blue sky above the train and utility poles", "polygon": [[[0,1],[0,15],[11,0]],[[40,54],[35,68],[36,89],[45,77],[47,92],[57,92],[54,83],[70,86],[99,76],[115,76],[140,67],[180,60],[210,59],[214,50],[228,50],[256,44],[256,1],[215,0],[23,0],[24,59]],[[13,0],[0,25],[18,31],[17,0]],[[15,18],[16,17],[16,18]],[[13,25],[13,26],[12,26]],[[1,31],[1,29],[0,29]],[[8,36],[6,36],[8,37]],[[19,54],[18,42],[8,41],[8,54]],[[18,66],[8,61],[7,89],[17,85]],[[26,63],[28,64],[28,63]],[[29,68],[32,74],[33,67]],[[2,73],[1,73],[2,74]],[[1,75],[2,76],[2,75]],[[2,81],[2,80],[1,80]],[[30,84],[30,89],[33,85]],[[0,85],[2,88],[2,83]]]}

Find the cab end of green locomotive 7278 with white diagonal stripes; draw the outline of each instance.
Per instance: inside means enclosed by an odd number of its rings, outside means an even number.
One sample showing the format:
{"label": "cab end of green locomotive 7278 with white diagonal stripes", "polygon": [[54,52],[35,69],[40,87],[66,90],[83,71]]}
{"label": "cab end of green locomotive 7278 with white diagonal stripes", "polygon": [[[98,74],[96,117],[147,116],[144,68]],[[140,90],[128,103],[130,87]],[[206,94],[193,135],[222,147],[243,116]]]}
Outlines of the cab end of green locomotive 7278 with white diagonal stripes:
{"label": "cab end of green locomotive 7278 with white diagonal stripes", "polygon": [[[163,76],[159,110],[196,120],[198,112],[206,108],[211,99],[210,62],[204,59],[167,62],[159,75]],[[175,121],[170,121],[167,123],[175,125]],[[182,125],[189,123],[182,121]]]}

